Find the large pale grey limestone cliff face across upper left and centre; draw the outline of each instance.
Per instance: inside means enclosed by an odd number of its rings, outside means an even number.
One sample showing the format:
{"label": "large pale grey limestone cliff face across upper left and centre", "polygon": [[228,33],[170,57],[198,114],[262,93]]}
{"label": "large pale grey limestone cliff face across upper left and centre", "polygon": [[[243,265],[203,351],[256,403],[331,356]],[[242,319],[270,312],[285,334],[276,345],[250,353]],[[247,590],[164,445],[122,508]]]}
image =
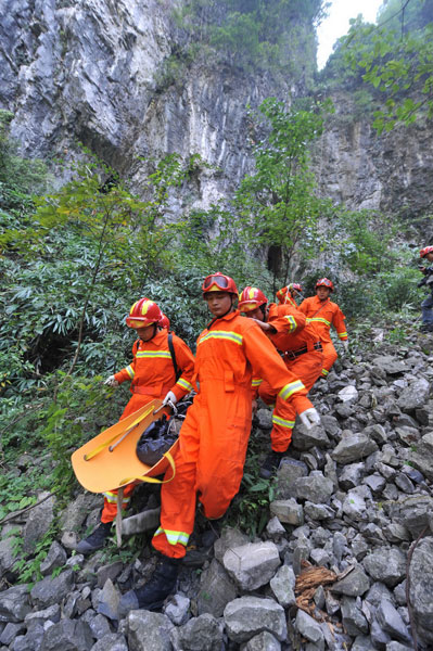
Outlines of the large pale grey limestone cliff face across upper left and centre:
{"label": "large pale grey limestone cliff face across upper left and centre", "polygon": [[239,68],[182,68],[162,89],[176,46],[174,0],[3,0],[0,107],[25,155],[68,157],[80,141],[133,179],[177,152],[211,165],[193,201],[207,207],[252,166],[246,105],[285,94]]}

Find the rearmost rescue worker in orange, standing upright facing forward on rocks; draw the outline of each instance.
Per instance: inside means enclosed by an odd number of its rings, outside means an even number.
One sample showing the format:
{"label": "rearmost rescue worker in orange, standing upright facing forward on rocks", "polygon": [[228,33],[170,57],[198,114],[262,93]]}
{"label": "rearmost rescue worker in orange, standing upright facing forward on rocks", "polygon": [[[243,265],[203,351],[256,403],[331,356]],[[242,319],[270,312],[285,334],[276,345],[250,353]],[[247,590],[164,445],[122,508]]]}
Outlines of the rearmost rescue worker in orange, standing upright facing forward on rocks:
{"label": "rearmost rescue worker in orange, standing upright facing forward on rocks", "polygon": [[346,317],[343,315],[336,303],[332,303],[330,294],[333,291],[334,285],[332,281],[328,278],[320,278],[316,283],[316,296],[304,298],[298,307],[300,311],[307,317],[307,321],[315,323],[319,333],[321,345],[323,347],[322,378],[328,375],[332,365],[339,357],[331,340],[331,326],[335,328],[336,334],[345,350],[347,350],[348,347],[346,324],[344,322]]}

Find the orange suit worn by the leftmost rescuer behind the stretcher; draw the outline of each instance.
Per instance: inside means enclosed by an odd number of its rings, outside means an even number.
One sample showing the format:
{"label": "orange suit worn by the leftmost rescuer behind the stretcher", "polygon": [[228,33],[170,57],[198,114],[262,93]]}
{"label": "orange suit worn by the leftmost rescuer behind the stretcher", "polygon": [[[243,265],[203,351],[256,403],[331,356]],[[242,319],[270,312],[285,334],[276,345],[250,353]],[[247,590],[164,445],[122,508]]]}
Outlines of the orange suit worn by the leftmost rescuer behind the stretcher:
{"label": "orange suit worn by the leftmost rescuer behind the stretcher", "polygon": [[[173,391],[178,400],[192,391],[192,375],[194,372],[194,356],[187,344],[173,334],[173,347],[176,355],[176,365],[181,371],[176,382],[175,367],[168,347],[168,332],[162,330],[149,342],[138,340],[132,346],[132,362],[114,378],[120,384],[131,380],[130,391],[132,397],[124,409],[120,419],[126,418],[153,398],[165,398]],[[124,488],[122,508],[128,506],[136,484],[127,484]],[[104,508],[101,522],[112,522],[117,513],[117,489],[104,493]]]}

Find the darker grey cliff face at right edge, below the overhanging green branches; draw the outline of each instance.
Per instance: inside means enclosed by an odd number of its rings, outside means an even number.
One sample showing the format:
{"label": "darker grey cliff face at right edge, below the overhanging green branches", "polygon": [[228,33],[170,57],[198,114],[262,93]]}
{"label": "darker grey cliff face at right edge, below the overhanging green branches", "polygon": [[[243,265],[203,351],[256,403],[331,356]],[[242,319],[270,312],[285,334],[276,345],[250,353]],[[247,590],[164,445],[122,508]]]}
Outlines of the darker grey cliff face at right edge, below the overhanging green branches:
{"label": "darker grey cliff face at right edge, below the overhanging green branches", "polygon": [[380,137],[370,120],[354,117],[351,97],[336,107],[315,152],[320,192],[351,209],[378,209],[406,218],[432,207],[431,126],[415,124]]}

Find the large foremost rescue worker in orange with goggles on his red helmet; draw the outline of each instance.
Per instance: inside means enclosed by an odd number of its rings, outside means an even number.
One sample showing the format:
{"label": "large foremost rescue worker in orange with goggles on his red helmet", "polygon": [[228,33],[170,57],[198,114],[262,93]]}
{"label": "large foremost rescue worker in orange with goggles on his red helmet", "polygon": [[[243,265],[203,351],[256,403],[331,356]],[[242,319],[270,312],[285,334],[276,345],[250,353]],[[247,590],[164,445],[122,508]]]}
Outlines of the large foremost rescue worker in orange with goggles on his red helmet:
{"label": "large foremost rescue worker in orange with goggles on his red helmet", "polygon": [[152,541],[162,560],[142,588],[122,597],[120,614],[157,610],[173,592],[194,527],[196,498],[204,516],[217,520],[237,495],[251,433],[253,374],[266,379],[279,400],[293,403],[297,411],[316,412],[305,401],[303,383],[285,368],[257,323],[234,308],[238,291],[232,278],[207,276],[202,291],[214,318],[196,342],[200,390],[180,430],[176,474],[162,486],[161,526]]}

